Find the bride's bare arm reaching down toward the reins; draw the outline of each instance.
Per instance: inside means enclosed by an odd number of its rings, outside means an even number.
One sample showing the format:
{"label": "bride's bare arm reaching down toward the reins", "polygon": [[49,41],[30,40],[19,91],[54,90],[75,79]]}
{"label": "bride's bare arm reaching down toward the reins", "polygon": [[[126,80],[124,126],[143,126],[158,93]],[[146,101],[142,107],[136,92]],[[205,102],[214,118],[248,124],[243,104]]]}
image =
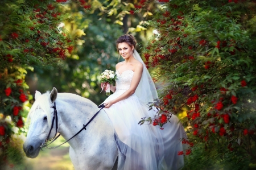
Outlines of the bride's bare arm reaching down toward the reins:
{"label": "bride's bare arm reaching down toward the reins", "polygon": [[121,94],[121,96],[113,99],[112,101],[105,102],[104,103],[105,108],[109,108],[114,103],[117,103],[122,99],[126,99],[127,97],[130,97],[132,94],[134,94],[135,90],[137,89],[137,86],[139,85],[139,81],[141,81],[142,72],[143,72],[143,65],[139,63],[134,68],[134,75],[133,75],[133,80],[131,80],[130,88],[126,90],[125,93]]}

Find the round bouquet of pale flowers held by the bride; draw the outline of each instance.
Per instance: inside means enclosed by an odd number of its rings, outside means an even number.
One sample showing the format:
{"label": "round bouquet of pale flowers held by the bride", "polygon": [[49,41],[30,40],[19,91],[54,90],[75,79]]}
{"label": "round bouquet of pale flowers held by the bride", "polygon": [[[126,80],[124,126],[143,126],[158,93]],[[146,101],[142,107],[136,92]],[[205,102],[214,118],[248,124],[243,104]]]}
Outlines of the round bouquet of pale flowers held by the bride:
{"label": "round bouquet of pale flowers held by the bride", "polygon": [[105,91],[106,96],[110,95],[110,84],[113,84],[115,80],[117,80],[117,74],[115,74],[113,71],[105,70],[103,73],[101,73],[101,89]]}

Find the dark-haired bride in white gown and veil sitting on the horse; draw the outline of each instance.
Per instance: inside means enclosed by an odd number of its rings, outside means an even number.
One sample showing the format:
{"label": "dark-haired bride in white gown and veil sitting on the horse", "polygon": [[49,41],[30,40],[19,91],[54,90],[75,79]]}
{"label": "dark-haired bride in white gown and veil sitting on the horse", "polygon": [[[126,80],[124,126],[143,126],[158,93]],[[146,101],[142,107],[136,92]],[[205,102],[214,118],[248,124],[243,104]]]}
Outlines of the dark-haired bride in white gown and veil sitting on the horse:
{"label": "dark-haired bride in white gown and veil sitting on the horse", "polygon": [[154,82],[141,57],[135,50],[133,35],[118,38],[117,49],[125,59],[115,66],[114,92],[104,101],[105,112],[113,123],[118,148],[118,170],[179,169],[183,166],[181,138],[183,127],[172,115],[171,123],[164,130],[152,125],[139,126],[143,117],[154,118],[155,111],[148,111],[148,102],[158,98]]}

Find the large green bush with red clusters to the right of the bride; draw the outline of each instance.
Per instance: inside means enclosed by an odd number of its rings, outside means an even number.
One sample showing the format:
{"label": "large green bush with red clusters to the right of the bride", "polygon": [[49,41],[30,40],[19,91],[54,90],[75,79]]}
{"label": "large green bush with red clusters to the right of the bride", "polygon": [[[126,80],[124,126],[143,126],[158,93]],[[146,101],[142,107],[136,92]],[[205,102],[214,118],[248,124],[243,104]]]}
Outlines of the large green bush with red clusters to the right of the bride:
{"label": "large green bush with red clusters to the right of the bride", "polygon": [[155,34],[144,58],[160,86],[154,104],[167,118],[187,110],[184,169],[256,163],[255,7],[255,1],[174,0],[162,2],[148,22]]}

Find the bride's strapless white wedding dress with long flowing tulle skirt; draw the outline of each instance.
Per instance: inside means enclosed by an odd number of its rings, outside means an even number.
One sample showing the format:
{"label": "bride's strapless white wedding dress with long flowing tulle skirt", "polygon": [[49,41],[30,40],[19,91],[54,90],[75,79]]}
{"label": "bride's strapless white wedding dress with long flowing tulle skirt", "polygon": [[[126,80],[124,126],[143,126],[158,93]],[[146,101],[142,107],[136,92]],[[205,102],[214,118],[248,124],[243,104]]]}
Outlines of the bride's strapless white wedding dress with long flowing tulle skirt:
{"label": "bride's strapless white wedding dress with long flowing tulle skirt", "polygon": [[[134,72],[127,70],[119,74],[117,71],[116,74],[115,93],[105,102],[130,88]],[[138,125],[143,117],[154,118],[155,111],[148,111],[148,106],[135,93],[104,110],[115,130],[118,170],[175,170],[183,166],[183,155],[178,156],[177,152],[183,150],[181,138],[185,132],[175,115],[172,115],[171,123],[163,126],[164,130],[160,130],[159,126]]]}

